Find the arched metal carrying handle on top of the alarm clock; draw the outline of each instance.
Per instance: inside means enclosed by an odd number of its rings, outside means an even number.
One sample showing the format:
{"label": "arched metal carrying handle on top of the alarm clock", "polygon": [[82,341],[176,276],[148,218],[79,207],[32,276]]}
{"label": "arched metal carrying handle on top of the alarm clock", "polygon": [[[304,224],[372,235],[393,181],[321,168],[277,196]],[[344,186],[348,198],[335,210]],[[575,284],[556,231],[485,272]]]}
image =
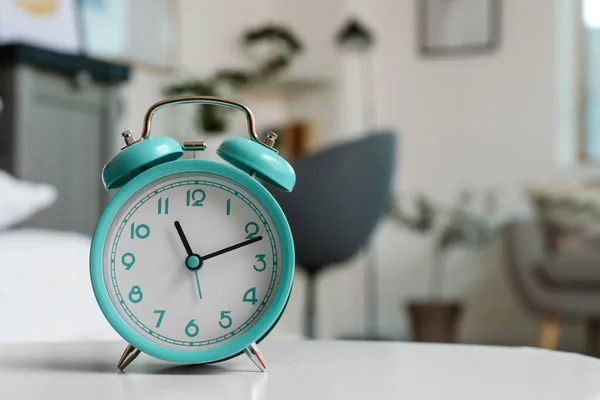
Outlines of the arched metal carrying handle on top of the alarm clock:
{"label": "arched metal carrying handle on top of the alarm clock", "polygon": [[[152,123],[152,117],[154,113],[161,108],[174,106],[178,104],[206,104],[213,106],[223,106],[234,108],[243,112],[246,115],[246,121],[248,122],[248,134],[250,138],[258,143],[261,143],[258,135],[256,134],[256,127],[254,124],[254,115],[252,111],[245,105],[241,103],[236,103],[235,101],[220,99],[218,97],[210,97],[210,96],[186,96],[186,97],[175,97],[172,99],[162,100],[154,103],[150,106],[148,111],[146,111],[146,115],[144,116],[144,126],[142,128],[142,137],[140,137],[139,141],[144,139],[148,139],[150,137],[150,124]],[[261,143],[263,144],[263,143]],[[267,146],[269,147],[269,146]]]}

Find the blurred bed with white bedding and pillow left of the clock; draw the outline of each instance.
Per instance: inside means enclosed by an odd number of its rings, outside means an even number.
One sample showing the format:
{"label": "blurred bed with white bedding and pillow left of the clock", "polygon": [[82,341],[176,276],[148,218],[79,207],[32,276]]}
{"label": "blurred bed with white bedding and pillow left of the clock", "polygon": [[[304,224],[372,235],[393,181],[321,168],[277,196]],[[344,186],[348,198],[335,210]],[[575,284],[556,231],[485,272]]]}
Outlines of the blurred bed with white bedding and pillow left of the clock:
{"label": "blurred bed with white bedding and pillow left of the clock", "polygon": [[0,170],[0,342],[118,339],[92,292],[90,238],[22,228],[57,198]]}

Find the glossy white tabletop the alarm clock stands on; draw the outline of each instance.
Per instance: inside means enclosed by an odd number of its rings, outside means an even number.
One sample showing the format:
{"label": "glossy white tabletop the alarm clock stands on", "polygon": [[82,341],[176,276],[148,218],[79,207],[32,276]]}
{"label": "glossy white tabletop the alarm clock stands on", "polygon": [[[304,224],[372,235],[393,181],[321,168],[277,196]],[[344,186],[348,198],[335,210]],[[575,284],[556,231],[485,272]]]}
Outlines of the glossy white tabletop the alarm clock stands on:
{"label": "glossy white tabletop the alarm clock stands on", "polygon": [[525,348],[373,342],[261,344],[269,369],[240,356],[176,366],[123,343],[0,346],[2,399],[544,399],[600,398],[600,361]]}

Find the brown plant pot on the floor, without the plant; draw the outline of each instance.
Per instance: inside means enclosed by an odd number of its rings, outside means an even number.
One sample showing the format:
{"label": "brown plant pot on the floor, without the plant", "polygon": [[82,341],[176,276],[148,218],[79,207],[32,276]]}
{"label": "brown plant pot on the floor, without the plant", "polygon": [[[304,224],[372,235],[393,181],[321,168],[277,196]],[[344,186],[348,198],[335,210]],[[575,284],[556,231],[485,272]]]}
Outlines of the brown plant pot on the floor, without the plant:
{"label": "brown plant pot on the floor, without the plant", "polygon": [[416,342],[454,343],[463,311],[458,302],[414,301],[408,304]]}

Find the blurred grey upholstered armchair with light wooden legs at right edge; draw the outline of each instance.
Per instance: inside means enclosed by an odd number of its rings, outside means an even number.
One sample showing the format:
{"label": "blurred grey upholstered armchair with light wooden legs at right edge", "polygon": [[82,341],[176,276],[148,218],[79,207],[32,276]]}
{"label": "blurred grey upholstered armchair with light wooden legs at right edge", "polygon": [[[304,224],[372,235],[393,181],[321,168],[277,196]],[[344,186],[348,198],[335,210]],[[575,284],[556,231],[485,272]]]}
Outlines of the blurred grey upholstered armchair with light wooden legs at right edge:
{"label": "blurred grey upholstered armchair with light wooden legs at right edge", "polygon": [[542,316],[539,346],[556,348],[561,320],[585,320],[588,352],[600,356],[600,253],[554,253],[544,234],[540,223],[516,221],[506,237],[514,285],[525,305]]}

